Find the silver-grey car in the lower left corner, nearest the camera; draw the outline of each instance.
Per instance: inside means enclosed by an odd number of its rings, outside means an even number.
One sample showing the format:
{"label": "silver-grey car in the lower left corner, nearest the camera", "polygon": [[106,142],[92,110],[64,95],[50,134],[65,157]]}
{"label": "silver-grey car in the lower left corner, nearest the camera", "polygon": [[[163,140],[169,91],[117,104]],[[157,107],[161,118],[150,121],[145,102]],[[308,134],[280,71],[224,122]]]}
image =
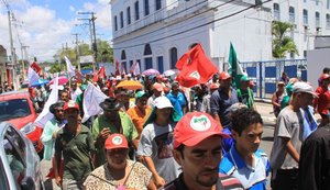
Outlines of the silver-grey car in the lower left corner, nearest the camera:
{"label": "silver-grey car in the lower left corner, nearest the camera", "polygon": [[0,123],[0,187],[3,190],[44,189],[40,158],[31,143],[10,123]]}

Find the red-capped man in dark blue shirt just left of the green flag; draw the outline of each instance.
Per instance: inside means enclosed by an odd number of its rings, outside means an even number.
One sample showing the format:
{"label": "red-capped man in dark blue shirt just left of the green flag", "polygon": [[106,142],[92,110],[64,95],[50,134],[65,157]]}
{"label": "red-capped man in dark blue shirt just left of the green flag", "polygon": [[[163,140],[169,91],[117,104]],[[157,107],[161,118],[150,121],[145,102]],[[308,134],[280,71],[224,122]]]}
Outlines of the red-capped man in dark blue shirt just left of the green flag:
{"label": "red-capped man in dark blue shirt just left of the green flag", "polygon": [[222,128],[229,124],[229,108],[239,102],[238,92],[231,87],[232,78],[227,71],[220,72],[220,87],[219,90],[211,94],[210,105],[211,114],[218,121]]}

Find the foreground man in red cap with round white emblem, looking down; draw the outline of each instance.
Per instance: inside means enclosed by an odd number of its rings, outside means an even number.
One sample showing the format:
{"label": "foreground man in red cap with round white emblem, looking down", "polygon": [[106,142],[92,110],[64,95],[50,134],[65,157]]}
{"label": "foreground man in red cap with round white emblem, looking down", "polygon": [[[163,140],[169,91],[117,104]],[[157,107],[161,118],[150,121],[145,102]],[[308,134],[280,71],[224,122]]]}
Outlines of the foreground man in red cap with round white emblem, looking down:
{"label": "foreground man in red cap with round white emblem, looking down", "polygon": [[220,175],[221,141],[228,137],[209,114],[186,114],[174,130],[174,158],[183,172],[164,190],[243,189],[235,178]]}

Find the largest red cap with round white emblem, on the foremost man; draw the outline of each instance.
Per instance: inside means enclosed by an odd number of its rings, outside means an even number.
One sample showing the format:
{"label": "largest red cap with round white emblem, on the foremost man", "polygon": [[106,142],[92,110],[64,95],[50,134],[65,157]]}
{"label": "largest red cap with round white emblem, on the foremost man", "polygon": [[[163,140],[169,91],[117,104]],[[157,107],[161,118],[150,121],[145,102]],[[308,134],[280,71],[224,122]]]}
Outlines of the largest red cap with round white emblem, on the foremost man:
{"label": "largest red cap with round white emblem, on the foremost man", "polygon": [[208,113],[193,112],[186,114],[174,128],[174,148],[182,144],[195,146],[207,137],[219,135],[229,138],[223,134],[218,122]]}

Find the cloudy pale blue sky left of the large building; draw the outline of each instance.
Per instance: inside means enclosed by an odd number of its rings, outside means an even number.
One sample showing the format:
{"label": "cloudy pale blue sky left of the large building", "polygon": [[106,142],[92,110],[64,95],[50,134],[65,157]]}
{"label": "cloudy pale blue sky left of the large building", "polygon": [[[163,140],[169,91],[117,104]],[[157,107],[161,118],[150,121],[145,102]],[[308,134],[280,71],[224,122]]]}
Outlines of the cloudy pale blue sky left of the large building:
{"label": "cloudy pale blue sky left of the large building", "polygon": [[[77,18],[88,18],[87,15],[79,15],[72,18],[70,20],[63,20],[58,18],[59,15],[57,15],[56,11],[52,10],[50,5],[46,7],[46,3],[43,5],[35,5],[31,4],[28,0],[11,0],[10,3],[13,12],[15,13],[15,19],[18,21],[23,21],[21,26],[12,26],[14,47],[19,58],[21,58],[21,52],[16,33],[20,34],[22,44],[29,46],[28,53],[30,60],[32,60],[34,56],[36,56],[40,62],[53,60],[53,56],[56,51],[61,49],[65,42],[68,43],[69,47],[74,46],[72,33],[80,33],[81,40],[87,43],[89,42],[89,36],[87,36],[86,32],[88,31],[88,27],[82,30],[81,27],[75,26]],[[98,2],[94,3],[84,3],[82,7],[78,9],[79,11],[96,12],[97,33],[102,33],[105,35],[101,37],[107,36],[106,40],[110,40],[112,36],[112,29],[109,0],[98,0]],[[68,5],[68,10],[72,12],[76,12],[78,9],[75,4]],[[0,7],[0,20],[2,21],[0,22],[0,45],[4,46],[9,55],[9,24],[7,11],[3,5]]]}

